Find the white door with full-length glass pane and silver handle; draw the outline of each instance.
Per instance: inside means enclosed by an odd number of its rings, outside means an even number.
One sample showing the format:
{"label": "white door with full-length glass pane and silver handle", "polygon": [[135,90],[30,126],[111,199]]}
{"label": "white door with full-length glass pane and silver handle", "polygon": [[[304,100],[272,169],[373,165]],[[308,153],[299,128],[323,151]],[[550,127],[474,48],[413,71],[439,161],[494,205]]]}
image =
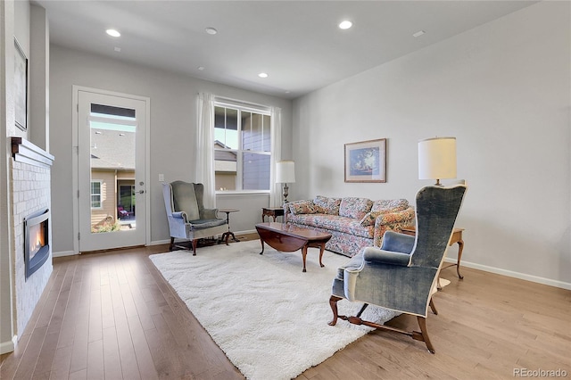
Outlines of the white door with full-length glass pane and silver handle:
{"label": "white door with full-length glass pane and silver handle", "polygon": [[79,252],[145,244],[146,106],[78,90]]}

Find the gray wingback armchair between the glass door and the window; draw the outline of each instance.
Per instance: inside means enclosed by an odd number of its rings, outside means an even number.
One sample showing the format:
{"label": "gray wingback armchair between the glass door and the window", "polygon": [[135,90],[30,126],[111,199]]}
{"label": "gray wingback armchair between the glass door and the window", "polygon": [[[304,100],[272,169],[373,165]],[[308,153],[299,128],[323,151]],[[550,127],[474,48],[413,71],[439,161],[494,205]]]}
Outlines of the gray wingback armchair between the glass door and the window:
{"label": "gray wingback armchair between the glass door and the window", "polygon": [[227,232],[227,221],[218,219],[218,209],[204,208],[203,194],[203,184],[183,181],[162,184],[169,219],[170,251],[175,247],[186,249],[184,245],[175,244],[175,239],[186,239],[192,241],[193,255],[196,255],[199,239]]}

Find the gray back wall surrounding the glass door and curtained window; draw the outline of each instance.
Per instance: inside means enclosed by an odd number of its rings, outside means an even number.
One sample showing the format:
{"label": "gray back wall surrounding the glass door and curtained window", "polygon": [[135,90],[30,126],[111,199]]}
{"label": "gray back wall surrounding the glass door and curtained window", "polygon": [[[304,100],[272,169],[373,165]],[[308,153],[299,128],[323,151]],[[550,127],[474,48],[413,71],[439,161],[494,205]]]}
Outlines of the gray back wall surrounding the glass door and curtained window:
{"label": "gray back wall surrounding the glass door and curtained window", "polygon": [[[273,96],[261,95],[214,82],[189,78],[162,70],[153,70],[70,50],[58,45],[50,49],[50,153],[56,160],[52,167],[52,206],[54,253],[73,251],[72,234],[72,141],[71,141],[71,87],[95,87],[130,95],[148,96],[151,99],[151,178],[147,179],[151,197],[151,240],[169,239],[159,173],[166,181],[192,180],[193,137],[196,128],[196,95],[210,92],[214,95],[240,99],[251,103],[273,105],[282,109],[284,154],[291,153],[292,102]],[[259,221],[261,207],[269,205],[267,195],[243,197],[225,195],[219,208],[241,209],[233,214],[231,223],[235,231],[251,230]],[[257,209],[253,219],[253,209]]]}

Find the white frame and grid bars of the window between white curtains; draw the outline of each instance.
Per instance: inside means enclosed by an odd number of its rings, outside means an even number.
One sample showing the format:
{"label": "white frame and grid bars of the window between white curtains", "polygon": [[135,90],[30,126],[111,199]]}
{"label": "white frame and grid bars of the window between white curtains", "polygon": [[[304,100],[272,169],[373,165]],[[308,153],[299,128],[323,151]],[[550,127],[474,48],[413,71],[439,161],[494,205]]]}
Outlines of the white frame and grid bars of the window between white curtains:
{"label": "white frame and grid bars of the window between white curtains", "polygon": [[[271,118],[272,118],[272,114],[271,114],[271,110],[269,107],[267,106],[262,106],[262,105],[256,105],[256,104],[249,104],[249,103],[243,103],[240,101],[232,101],[232,100],[222,100],[222,99],[216,99],[214,100],[214,115],[212,115],[212,120],[215,120],[215,110],[217,107],[222,107],[224,109],[231,109],[231,110],[235,110],[237,112],[237,144],[238,147],[236,149],[220,149],[220,148],[216,148],[214,143],[216,141],[216,124],[213,123],[212,128],[214,128],[214,130],[212,131],[212,153],[214,158],[216,157],[216,152],[233,152],[236,153],[236,189],[235,190],[219,190],[218,188],[215,189],[216,194],[217,195],[224,195],[224,194],[269,194],[269,192],[271,191],[271,162],[273,159],[273,151],[272,151],[272,145],[271,145],[271,136],[272,136],[272,122],[271,122]],[[251,113],[256,113],[261,115],[262,117],[262,136],[263,136],[263,130],[264,128],[266,128],[266,126],[263,124],[263,119],[264,116],[269,117],[269,126],[268,126],[268,130],[269,130],[269,151],[265,152],[265,151],[252,151],[249,149],[245,149],[244,150],[244,140],[243,140],[243,133],[244,133],[244,129],[243,129],[243,125],[242,125],[242,112],[251,112]],[[262,146],[263,149],[263,146]],[[265,190],[265,189],[257,189],[257,190],[244,190],[244,170],[243,170],[243,157],[244,157],[244,153],[255,153],[255,154],[261,154],[261,155],[267,155],[269,156],[269,162],[270,162],[270,168],[269,168],[269,178],[268,178],[268,182],[269,182],[269,189]],[[214,160],[216,161],[216,160]],[[214,171],[214,178],[216,178],[216,165],[214,165],[214,168],[212,168],[212,170]]]}

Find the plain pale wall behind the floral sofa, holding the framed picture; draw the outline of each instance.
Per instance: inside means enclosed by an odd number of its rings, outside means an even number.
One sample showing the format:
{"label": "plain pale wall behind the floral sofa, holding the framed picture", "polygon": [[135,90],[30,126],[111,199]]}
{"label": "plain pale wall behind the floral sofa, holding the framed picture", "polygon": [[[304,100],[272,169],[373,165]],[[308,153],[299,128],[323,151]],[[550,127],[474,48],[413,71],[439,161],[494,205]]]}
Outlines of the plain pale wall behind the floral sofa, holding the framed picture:
{"label": "plain pale wall behind the floral sofa, holding the framed picture", "polygon": [[[534,4],[294,101],[292,199],[412,201],[430,183],[418,140],[456,136],[463,263],[571,288],[569,8]],[[387,183],[344,183],[343,144],[384,137]]]}

